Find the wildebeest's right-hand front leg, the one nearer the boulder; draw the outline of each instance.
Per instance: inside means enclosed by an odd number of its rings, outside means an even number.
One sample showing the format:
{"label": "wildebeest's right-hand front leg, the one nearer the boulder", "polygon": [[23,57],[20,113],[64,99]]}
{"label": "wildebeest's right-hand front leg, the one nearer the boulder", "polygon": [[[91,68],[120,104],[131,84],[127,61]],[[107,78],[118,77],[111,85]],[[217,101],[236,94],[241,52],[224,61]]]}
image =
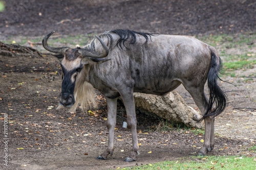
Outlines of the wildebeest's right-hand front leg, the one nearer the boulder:
{"label": "wildebeest's right-hand front leg, the one nearer the boulder", "polygon": [[126,114],[127,114],[127,125],[128,128],[131,129],[132,132],[132,140],[133,140],[133,150],[129,157],[125,158],[124,161],[132,162],[136,159],[136,154],[139,155],[139,143],[137,137],[137,120],[136,120],[136,112],[135,112],[135,104],[133,93],[122,95],[122,100],[125,106]]}

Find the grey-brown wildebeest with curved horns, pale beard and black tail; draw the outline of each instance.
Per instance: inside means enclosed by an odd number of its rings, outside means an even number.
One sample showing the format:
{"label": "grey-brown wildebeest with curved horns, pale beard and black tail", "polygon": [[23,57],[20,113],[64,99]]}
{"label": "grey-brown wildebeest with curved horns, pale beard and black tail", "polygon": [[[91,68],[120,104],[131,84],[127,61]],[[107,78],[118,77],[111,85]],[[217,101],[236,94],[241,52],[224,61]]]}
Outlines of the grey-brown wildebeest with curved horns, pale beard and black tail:
{"label": "grey-brown wildebeest with curved horns, pale beard and black tail", "polygon": [[[57,53],[62,67],[61,107],[76,109],[94,105],[94,88],[104,94],[108,107],[106,127],[109,144],[97,159],[106,159],[114,151],[117,97],[121,96],[127,125],[132,131],[133,149],[125,161],[139,154],[133,92],[163,95],[181,83],[191,94],[205,121],[204,144],[199,155],[214,148],[215,117],[226,107],[225,93],[217,84],[221,59],[214,47],[191,36],[140,33],[112,30],[96,36],[83,48],[52,47],[43,40],[45,49]],[[204,92],[208,79],[209,100]]]}

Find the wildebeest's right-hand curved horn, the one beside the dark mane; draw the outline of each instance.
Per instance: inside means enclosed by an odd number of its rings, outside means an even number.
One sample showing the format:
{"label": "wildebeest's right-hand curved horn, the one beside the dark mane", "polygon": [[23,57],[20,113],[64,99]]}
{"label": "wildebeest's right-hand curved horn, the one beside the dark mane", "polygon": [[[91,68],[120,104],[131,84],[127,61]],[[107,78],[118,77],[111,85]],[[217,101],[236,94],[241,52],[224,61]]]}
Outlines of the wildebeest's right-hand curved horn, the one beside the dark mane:
{"label": "wildebeest's right-hand curved horn, the one beside the dark mane", "polygon": [[92,58],[103,58],[103,57],[108,56],[108,54],[109,54],[108,46],[106,46],[106,44],[102,41],[102,39],[99,38],[97,35],[95,35],[95,37],[99,40],[99,42],[103,46],[104,52],[103,53],[98,53],[96,51],[91,51],[91,50],[87,50],[87,49],[81,48],[80,50],[78,50],[78,52],[82,56],[84,56],[84,57],[92,57]]}

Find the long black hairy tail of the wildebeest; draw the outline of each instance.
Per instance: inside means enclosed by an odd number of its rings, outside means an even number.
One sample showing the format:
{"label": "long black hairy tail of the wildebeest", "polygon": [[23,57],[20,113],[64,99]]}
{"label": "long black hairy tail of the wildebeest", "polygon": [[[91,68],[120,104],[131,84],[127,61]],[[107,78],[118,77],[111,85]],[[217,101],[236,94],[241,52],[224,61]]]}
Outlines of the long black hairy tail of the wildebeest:
{"label": "long black hairy tail of the wildebeest", "polygon": [[221,59],[217,57],[215,50],[211,49],[211,62],[207,82],[210,96],[207,110],[203,115],[202,119],[204,119],[207,116],[216,117],[219,114],[221,114],[226,108],[226,94],[224,93],[224,91],[222,91],[222,89],[217,83],[217,80],[220,79],[218,74],[221,71],[221,68]]}

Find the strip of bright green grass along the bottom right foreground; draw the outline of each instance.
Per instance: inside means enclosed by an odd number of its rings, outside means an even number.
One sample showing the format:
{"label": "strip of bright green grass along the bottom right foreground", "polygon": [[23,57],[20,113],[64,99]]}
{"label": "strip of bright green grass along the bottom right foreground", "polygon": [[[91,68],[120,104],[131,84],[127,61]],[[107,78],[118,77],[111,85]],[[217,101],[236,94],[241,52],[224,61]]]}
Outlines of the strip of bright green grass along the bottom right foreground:
{"label": "strip of bright green grass along the bottom right foreground", "polygon": [[256,169],[254,157],[207,156],[187,157],[173,161],[158,162],[119,169]]}

